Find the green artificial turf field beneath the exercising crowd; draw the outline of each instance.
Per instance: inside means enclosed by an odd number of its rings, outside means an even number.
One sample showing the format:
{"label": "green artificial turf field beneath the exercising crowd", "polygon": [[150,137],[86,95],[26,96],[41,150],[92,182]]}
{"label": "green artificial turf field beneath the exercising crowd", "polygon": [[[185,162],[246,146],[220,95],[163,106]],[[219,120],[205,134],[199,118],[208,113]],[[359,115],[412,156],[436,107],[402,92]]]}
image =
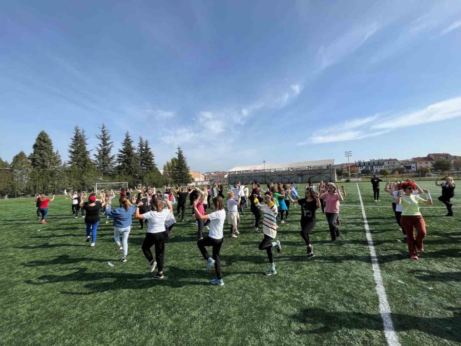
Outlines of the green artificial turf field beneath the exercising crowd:
{"label": "green artificial turf field beneath the exercising crowd", "polygon": [[[443,207],[440,188],[421,185],[434,207]],[[375,207],[371,184],[359,187],[364,205]],[[455,217],[422,209],[428,236],[421,260],[413,261],[383,190],[379,208],[365,211],[401,344],[461,343],[461,209],[454,208]],[[50,202],[46,225],[36,221],[33,199],[2,200],[0,344],[385,345],[357,184],[346,184],[346,192],[341,238],[329,243],[319,212],[310,260],[299,235],[300,208],[291,208],[279,224],[278,274],[269,277],[266,253],[258,250],[263,236],[253,233],[248,208],[239,238],[224,239],[223,287],[209,284],[214,270],[204,270],[191,216],[173,229],[165,278],[155,280],[136,220],[128,262],[121,263],[112,223],[102,223],[89,247],[83,219],[71,217],[64,197]],[[456,207],[460,202],[453,199]]]}

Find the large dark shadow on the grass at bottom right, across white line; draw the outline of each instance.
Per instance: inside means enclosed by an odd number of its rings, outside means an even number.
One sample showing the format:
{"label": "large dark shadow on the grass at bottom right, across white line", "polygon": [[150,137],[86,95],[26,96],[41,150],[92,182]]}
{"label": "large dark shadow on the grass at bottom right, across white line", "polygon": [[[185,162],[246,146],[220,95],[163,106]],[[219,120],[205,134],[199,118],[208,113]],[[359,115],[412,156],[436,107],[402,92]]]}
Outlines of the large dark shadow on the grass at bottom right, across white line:
{"label": "large dark shadow on the grass at bottom right, across white line", "polygon": [[[418,330],[446,340],[461,342],[461,309],[453,307],[446,310],[451,311],[452,316],[420,317],[391,313],[391,317],[396,332]],[[323,334],[341,329],[383,331],[380,314],[307,308],[292,317],[306,326],[298,331],[298,334]]]}

